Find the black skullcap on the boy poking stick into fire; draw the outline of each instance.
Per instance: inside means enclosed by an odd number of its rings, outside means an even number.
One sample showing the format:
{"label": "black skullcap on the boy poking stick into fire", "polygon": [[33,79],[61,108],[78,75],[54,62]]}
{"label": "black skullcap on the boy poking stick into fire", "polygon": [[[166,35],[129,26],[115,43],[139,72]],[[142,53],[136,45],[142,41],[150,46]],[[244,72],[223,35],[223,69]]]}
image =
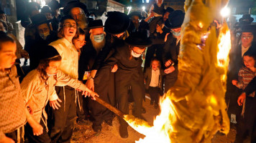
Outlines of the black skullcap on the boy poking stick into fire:
{"label": "black skullcap on the boy poking stick into fire", "polygon": [[53,46],[47,45],[40,49],[40,60],[51,59],[56,56],[60,56],[60,54]]}

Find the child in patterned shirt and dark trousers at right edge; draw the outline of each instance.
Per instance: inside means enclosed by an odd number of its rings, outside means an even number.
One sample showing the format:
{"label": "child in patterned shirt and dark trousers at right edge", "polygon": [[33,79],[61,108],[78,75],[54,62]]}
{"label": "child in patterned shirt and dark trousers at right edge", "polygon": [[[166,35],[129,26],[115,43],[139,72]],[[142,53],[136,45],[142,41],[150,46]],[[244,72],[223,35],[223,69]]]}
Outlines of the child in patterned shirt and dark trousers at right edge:
{"label": "child in patterned shirt and dark trousers at right edge", "polygon": [[[245,89],[245,87],[247,87],[251,80],[254,77],[256,77],[255,59],[255,51],[249,49],[244,53],[244,66],[241,69],[239,69],[238,81],[232,81],[232,84],[234,84],[239,89]],[[253,128],[255,128],[256,106],[255,104],[253,104],[253,101],[255,101],[255,92],[252,92],[252,94],[247,95],[247,97],[244,95],[245,94],[242,94],[237,100],[239,106],[243,105],[243,107],[242,117],[237,125],[237,137],[235,142],[243,142],[246,139],[248,132],[249,136],[252,137]]]}

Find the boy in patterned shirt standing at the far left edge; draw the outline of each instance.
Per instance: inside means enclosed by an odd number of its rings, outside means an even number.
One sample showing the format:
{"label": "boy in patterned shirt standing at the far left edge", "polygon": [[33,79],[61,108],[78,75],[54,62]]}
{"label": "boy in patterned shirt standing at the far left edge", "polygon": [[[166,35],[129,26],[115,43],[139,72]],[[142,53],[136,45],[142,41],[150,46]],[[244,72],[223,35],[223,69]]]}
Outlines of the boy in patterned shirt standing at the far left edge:
{"label": "boy in patterned shirt standing at the far left edge", "polygon": [[0,31],[0,142],[24,142],[25,104],[19,86],[14,39]]}

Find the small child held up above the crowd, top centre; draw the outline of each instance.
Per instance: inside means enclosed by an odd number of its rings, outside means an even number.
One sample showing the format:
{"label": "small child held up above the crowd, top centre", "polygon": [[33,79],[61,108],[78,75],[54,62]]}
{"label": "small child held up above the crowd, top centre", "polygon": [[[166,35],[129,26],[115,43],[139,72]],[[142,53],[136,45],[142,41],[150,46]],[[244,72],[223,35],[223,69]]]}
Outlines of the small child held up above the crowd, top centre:
{"label": "small child held up above the crowd, top centre", "polygon": [[152,21],[150,21],[150,23],[149,23],[150,34],[155,32],[157,24],[159,26],[161,26],[163,24],[161,21],[161,18],[163,17],[163,13],[165,11],[165,5],[163,4],[163,0],[155,0],[155,2],[156,3],[152,4],[152,6],[150,7],[150,16],[149,17],[151,18],[152,16],[154,16]]}

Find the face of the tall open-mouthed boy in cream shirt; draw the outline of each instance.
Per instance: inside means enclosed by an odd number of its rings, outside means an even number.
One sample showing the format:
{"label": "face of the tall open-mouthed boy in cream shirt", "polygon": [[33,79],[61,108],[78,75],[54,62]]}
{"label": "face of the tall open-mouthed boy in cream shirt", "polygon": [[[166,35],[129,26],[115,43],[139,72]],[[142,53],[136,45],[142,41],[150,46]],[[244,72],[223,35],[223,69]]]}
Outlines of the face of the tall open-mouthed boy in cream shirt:
{"label": "face of the tall open-mouthed boy in cream shirt", "polygon": [[73,19],[65,19],[64,24],[63,24],[63,30],[64,30],[64,36],[66,37],[74,37],[76,35],[76,21]]}

